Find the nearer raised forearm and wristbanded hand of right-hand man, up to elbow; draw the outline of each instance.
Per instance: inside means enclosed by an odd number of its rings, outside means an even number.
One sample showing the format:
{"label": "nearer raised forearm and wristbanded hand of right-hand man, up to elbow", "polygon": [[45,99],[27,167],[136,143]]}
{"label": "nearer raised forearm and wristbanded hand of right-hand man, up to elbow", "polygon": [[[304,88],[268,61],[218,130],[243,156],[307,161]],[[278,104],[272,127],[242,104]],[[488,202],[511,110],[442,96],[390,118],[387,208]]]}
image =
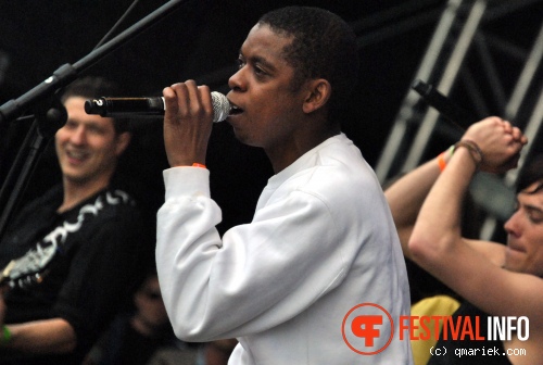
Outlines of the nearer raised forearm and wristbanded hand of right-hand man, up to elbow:
{"label": "nearer raised forearm and wristbanded hand of right-hand man, up to elbow", "polygon": [[433,264],[462,242],[460,210],[477,168],[504,173],[514,167],[526,137],[508,122],[488,117],[468,128],[426,199],[409,241],[409,251]]}

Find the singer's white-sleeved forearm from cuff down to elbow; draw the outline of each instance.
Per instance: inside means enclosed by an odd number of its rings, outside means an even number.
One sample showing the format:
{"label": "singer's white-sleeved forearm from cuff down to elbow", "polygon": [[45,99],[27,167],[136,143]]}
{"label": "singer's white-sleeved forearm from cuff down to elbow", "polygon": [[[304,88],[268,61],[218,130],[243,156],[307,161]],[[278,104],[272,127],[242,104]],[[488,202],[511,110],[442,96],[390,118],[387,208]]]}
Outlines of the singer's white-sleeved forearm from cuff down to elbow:
{"label": "singer's white-sleeved forearm from cuff down to elbow", "polygon": [[[157,213],[155,254],[162,298],[176,335],[190,341],[207,341],[194,336],[206,336],[201,328],[217,314],[209,306],[213,306],[211,270],[222,247],[214,229],[220,211],[210,198],[207,180],[209,172],[199,167],[166,171],[166,200]],[[194,335],[195,329],[205,333]]]}

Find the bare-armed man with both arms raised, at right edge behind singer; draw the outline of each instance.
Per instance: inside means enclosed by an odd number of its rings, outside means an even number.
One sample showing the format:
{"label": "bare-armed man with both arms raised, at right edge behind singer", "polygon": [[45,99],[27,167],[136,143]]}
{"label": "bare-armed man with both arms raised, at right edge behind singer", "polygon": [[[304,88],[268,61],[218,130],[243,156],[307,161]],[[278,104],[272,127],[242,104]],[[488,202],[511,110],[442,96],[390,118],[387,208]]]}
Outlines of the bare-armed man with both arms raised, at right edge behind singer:
{"label": "bare-armed man with both arms raised, at right edge behind singer", "polygon": [[[449,326],[435,344],[446,354],[433,354],[429,364],[523,365],[543,358],[541,158],[530,162],[518,181],[516,211],[504,225],[507,244],[466,239],[462,232],[463,202],[476,172],[507,172],[516,166],[526,143],[519,128],[488,117],[469,127],[454,150],[386,190],[404,254],[465,300],[453,315],[454,323],[462,320],[459,328],[467,322],[479,323],[477,335],[484,337],[458,339]],[[487,325],[494,317],[525,317],[529,325],[517,327],[510,337],[488,338],[494,331],[489,332]],[[491,354],[489,349],[496,351]]]}

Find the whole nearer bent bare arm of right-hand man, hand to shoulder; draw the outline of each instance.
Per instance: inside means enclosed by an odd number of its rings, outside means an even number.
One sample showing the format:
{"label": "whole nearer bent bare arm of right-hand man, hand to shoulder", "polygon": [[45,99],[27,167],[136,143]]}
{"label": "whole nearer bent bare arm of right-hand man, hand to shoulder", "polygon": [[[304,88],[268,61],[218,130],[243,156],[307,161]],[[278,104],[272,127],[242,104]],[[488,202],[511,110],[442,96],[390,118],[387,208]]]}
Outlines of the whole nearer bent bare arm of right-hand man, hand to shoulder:
{"label": "whole nearer bent bare arm of right-hand man, hand to shoulder", "polygon": [[532,278],[496,266],[460,231],[462,202],[477,168],[502,173],[515,166],[526,138],[509,123],[489,117],[470,127],[462,141],[420,209],[408,243],[412,256],[483,311],[529,315],[522,288]]}

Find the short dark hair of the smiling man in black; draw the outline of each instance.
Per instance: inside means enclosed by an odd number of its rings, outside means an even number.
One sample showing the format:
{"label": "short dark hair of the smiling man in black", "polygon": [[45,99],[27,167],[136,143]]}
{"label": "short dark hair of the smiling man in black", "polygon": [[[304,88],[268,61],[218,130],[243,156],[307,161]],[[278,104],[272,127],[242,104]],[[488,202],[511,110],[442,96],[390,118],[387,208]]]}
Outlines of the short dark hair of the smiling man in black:
{"label": "short dark hair of the smiling man in black", "polygon": [[[71,97],[94,99],[100,97],[116,97],[121,95],[121,88],[112,80],[100,76],[86,76],[76,79],[62,90],[61,102],[64,103]],[[127,118],[113,118],[113,127],[116,134],[128,130]]]}

